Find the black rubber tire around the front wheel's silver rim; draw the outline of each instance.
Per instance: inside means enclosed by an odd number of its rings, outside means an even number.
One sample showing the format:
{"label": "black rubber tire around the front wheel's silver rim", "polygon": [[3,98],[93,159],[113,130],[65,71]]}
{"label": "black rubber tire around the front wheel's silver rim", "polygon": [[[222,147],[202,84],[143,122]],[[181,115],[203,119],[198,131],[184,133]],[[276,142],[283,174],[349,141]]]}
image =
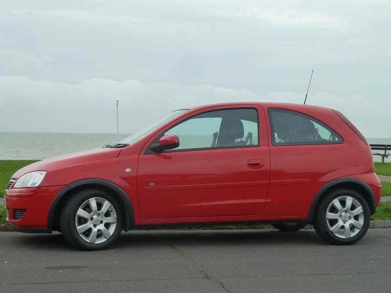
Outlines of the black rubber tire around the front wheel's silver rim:
{"label": "black rubber tire around the front wheel's silver rim", "polygon": [[[114,212],[116,213],[116,217],[117,217],[115,230],[113,230],[111,236],[108,237],[107,240],[104,240],[104,242],[101,243],[88,243],[79,235],[79,233],[76,230],[76,223],[75,223],[76,213],[78,209],[83,205],[83,203],[85,203],[87,200],[91,198],[101,198],[101,199],[108,200],[111,206],[114,208]],[[110,209],[110,211],[112,211],[112,209]],[[60,215],[60,226],[65,240],[72,246],[86,251],[103,250],[109,247],[112,243],[114,243],[117,240],[117,238],[121,234],[121,230],[122,230],[121,224],[122,224],[122,212],[116,198],[109,195],[107,192],[99,189],[85,189],[72,195],[65,203],[64,208],[62,209]],[[88,231],[86,233],[88,233]],[[103,237],[103,234],[101,234],[100,236]]]}

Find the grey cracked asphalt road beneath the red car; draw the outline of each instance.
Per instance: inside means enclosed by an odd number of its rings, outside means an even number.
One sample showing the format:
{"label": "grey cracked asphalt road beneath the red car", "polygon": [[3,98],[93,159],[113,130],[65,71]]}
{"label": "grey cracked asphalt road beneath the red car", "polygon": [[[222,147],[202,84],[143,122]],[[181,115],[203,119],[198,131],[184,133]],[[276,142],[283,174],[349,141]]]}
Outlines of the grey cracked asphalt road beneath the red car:
{"label": "grey cracked asphalt road beneath the red car", "polygon": [[0,232],[0,292],[391,292],[391,229],[353,246],[314,230],[131,231],[106,251]]}

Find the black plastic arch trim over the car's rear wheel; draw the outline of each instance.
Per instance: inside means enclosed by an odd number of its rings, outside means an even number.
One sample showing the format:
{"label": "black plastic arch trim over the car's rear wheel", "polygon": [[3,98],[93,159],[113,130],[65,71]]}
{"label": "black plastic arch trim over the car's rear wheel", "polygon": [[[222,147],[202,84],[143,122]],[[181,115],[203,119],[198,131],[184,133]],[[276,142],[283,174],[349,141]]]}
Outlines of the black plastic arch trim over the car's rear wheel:
{"label": "black plastic arch trim over the car's rear wheel", "polygon": [[314,199],[312,200],[312,203],[311,203],[311,207],[309,209],[309,213],[308,213],[308,218],[307,218],[307,222],[308,223],[312,223],[313,219],[314,219],[314,214],[315,214],[315,209],[318,205],[318,202],[319,200],[321,199],[322,195],[325,193],[325,191],[333,186],[336,186],[338,184],[341,184],[341,183],[354,183],[354,184],[358,184],[360,185],[362,188],[364,188],[365,190],[368,191],[368,194],[369,194],[369,197],[371,199],[371,203],[369,203],[369,207],[370,207],[370,211],[371,211],[371,215],[373,215],[376,211],[376,198],[375,198],[375,195],[373,193],[373,190],[372,188],[369,187],[369,185],[367,183],[365,183],[364,181],[360,180],[360,179],[357,179],[357,178],[352,178],[352,177],[344,177],[344,178],[337,178],[335,180],[332,180],[328,183],[326,183],[322,188],[320,188],[318,190],[318,192],[316,193]]}

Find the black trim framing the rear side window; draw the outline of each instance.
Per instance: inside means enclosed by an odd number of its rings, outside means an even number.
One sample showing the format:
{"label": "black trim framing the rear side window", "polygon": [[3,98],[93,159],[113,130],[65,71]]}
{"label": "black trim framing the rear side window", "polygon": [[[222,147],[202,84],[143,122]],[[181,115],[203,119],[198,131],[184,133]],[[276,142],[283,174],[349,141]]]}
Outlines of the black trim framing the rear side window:
{"label": "black trim framing the rear side window", "polygon": [[[290,112],[294,112],[294,113],[297,113],[299,114],[300,116],[306,116],[306,117],[310,117],[312,118],[317,124],[319,124],[320,126],[324,126],[327,130],[329,130],[330,132],[334,132],[336,133],[340,138],[341,138],[341,141],[340,142],[304,142],[303,143],[295,143],[295,144],[291,144],[291,143],[277,143],[275,141],[275,136],[274,136],[274,126],[273,126],[273,123],[272,123],[272,120],[271,120],[271,111],[273,110],[283,110],[283,111],[290,111]],[[337,132],[335,131],[333,128],[331,128],[330,126],[328,126],[326,123],[320,121],[319,119],[316,119],[315,117],[311,116],[311,115],[308,115],[308,114],[305,114],[305,113],[302,113],[302,112],[299,112],[299,111],[295,111],[295,110],[291,110],[291,109],[284,109],[284,108],[275,108],[275,107],[270,107],[267,109],[267,116],[268,116],[268,119],[269,119],[269,125],[270,125],[270,138],[271,138],[271,141],[272,141],[272,145],[273,146],[317,146],[317,145],[341,145],[345,142],[344,138]]]}

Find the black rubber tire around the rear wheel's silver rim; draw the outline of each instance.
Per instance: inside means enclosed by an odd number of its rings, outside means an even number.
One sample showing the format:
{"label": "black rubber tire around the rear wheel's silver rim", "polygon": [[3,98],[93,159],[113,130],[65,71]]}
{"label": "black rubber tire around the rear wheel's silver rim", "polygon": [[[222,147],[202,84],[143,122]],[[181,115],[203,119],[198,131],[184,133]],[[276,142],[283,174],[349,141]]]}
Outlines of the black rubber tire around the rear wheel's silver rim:
{"label": "black rubber tire around the rear wheel's silver rim", "polygon": [[[327,219],[326,219],[326,212],[328,206],[337,198],[343,196],[349,196],[358,201],[358,203],[361,205],[363,209],[363,224],[361,229],[357,229],[355,227],[350,226],[350,230],[356,229],[358,232],[356,232],[355,235],[349,237],[349,238],[341,238],[335,235],[330,228],[328,227],[327,224]],[[345,204],[346,205],[346,204]],[[344,208],[344,207],[343,207]],[[346,206],[345,206],[346,208]],[[344,208],[344,209],[345,209]],[[354,217],[353,217],[354,219]],[[339,220],[335,220],[339,221]],[[314,217],[314,228],[323,240],[325,240],[328,243],[335,244],[335,245],[350,245],[353,243],[356,243],[359,241],[361,238],[364,237],[364,235],[367,233],[367,230],[369,228],[369,222],[370,222],[370,209],[368,206],[367,201],[365,198],[358,192],[351,190],[351,189],[338,189],[334,190],[322,200],[320,203],[318,209],[316,210],[315,217]],[[331,226],[331,225],[330,225]],[[341,227],[345,227],[343,224]],[[348,230],[349,232],[349,230]]]}

